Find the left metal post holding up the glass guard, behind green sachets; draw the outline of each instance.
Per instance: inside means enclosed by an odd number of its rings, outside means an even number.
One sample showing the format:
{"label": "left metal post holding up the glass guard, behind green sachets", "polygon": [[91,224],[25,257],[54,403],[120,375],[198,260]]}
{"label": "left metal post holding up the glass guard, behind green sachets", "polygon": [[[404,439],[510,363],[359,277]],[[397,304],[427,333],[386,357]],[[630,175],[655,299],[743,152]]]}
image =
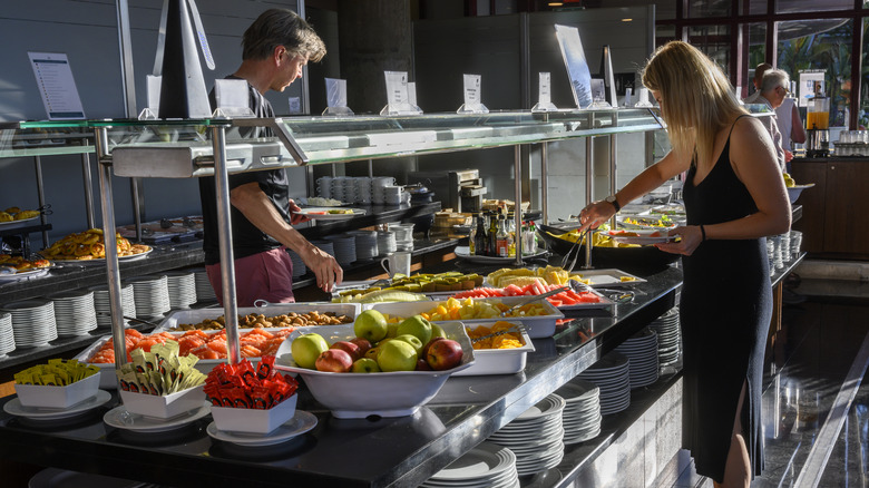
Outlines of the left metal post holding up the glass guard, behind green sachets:
{"label": "left metal post holding up the glass guard, behind green sachets", "polygon": [[95,130],[94,136],[99,168],[99,199],[102,209],[102,238],[106,244],[106,273],[108,274],[109,308],[111,310],[115,369],[120,370],[120,367],[127,362],[127,349],[124,341],[124,308],[120,296],[118,246],[115,241],[115,197],[111,189],[111,164],[108,158],[108,129],[99,127]]}

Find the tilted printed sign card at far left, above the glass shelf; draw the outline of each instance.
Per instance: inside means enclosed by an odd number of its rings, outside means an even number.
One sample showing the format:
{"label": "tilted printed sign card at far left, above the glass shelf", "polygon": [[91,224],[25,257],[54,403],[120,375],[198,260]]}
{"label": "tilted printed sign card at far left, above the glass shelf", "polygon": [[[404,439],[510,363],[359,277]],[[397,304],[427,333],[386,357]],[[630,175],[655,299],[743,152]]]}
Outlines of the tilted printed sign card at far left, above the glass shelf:
{"label": "tilted printed sign card at far left, above the glass shelf", "polygon": [[36,76],[37,88],[42,96],[49,120],[85,118],[81,98],[69,67],[67,55],[61,52],[28,52]]}

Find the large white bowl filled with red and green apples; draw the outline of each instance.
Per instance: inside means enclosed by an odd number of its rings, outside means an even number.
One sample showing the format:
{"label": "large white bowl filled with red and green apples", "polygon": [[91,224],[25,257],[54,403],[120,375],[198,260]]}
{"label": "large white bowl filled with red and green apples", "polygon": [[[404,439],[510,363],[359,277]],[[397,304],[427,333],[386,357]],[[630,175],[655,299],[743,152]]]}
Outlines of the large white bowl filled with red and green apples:
{"label": "large white bowl filled with red and green apples", "polygon": [[275,368],[301,375],[316,401],[339,419],[411,416],[438,393],[450,374],[470,368],[473,363],[475,351],[465,325],[460,322],[445,322],[442,328],[449,339],[461,344],[463,352],[461,364],[446,371],[331,373],[295,365],[290,349],[293,339],[303,333],[316,332],[331,344],[352,339],[353,324],[296,329],[277,350]]}

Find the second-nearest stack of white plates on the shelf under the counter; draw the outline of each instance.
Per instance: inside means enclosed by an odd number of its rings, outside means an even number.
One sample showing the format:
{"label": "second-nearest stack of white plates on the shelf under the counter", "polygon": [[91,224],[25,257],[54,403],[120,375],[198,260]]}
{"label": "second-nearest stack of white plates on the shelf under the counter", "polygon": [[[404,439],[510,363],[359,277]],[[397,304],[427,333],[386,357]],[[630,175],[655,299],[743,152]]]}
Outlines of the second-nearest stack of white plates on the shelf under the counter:
{"label": "second-nearest stack of white plates on the shelf under the counter", "polygon": [[519,476],[545,471],[564,458],[562,413],[566,402],[550,394],[489,436],[489,441],[516,455]]}

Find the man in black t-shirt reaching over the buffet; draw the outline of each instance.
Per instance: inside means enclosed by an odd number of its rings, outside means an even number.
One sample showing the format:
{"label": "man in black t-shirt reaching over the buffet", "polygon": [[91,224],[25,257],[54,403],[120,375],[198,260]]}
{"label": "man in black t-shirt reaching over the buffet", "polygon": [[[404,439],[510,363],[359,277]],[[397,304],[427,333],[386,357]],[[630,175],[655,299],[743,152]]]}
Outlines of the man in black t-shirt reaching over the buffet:
{"label": "man in black t-shirt reaching over the buffet", "polygon": [[[325,46],[311,26],[292,10],[263,12],[244,32],[242,65],[227,78],[244,79],[250,106],[256,117],[274,117],[267,90],[283,91],[297,78],[309,60],[325,56]],[[230,175],[233,254],[235,258],[236,301],[253,306],[255,300],[292,302],[292,261],[284,247],[296,252],[316,284],[331,292],[341,283],[343,271],[334,257],[314,246],[293,224],[306,218],[289,196],[285,169]],[[205,265],[208,280],[223,301],[217,198],[214,178],[199,178],[204,217]]]}

